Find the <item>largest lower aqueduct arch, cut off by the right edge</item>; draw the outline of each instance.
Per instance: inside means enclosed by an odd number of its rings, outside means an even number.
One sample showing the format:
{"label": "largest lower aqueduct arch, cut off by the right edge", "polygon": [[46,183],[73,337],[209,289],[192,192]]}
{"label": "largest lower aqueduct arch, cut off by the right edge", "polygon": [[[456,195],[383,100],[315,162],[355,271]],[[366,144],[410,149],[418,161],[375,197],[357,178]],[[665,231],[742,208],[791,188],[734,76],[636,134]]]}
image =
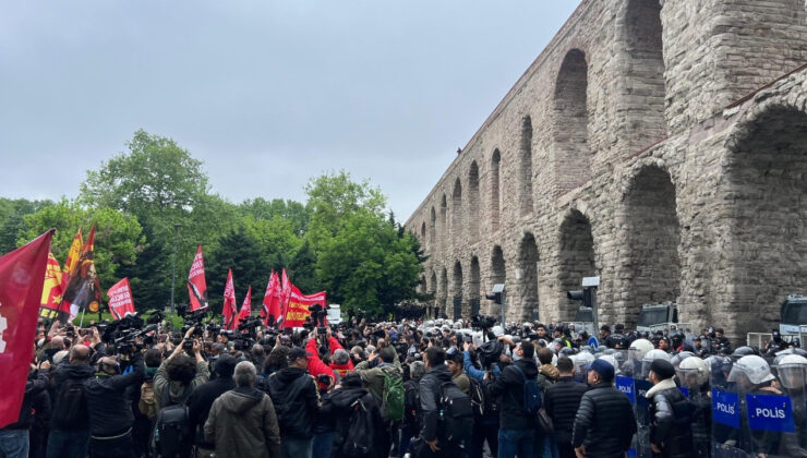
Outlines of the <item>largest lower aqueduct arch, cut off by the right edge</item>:
{"label": "largest lower aqueduct arch, cut off by the right edge", "polygon": [[[807,292],[807,112],[769,105],[743,123],[723,184],[734,336],[775,327],[779,304]],[[748,327],[746,327],[748,326]]]}

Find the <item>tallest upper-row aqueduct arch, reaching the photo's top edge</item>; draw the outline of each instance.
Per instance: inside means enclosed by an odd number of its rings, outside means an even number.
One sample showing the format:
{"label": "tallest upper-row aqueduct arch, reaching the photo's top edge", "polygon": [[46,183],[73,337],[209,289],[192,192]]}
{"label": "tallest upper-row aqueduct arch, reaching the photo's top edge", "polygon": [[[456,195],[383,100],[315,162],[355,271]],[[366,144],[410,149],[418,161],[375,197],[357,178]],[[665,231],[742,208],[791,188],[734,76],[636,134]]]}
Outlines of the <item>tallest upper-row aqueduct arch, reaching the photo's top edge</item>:
{"label": "tallest upper-row aqueduct arch, reaching the photo's top edge", "polygon": [[629,60],[623,95],[630,152],[666,135],[661,8],[657,0],[629,0],[625,11],[625,50]]}

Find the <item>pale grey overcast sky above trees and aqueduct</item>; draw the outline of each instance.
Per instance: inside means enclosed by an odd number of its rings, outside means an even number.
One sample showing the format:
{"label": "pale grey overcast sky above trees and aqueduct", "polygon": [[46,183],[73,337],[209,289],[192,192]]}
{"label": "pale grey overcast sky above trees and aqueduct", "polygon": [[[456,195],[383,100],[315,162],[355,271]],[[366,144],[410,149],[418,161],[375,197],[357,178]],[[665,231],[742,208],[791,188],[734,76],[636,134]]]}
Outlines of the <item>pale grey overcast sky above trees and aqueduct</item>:
{"label": "pale grey overcast sky above trees and aqueduct", "polygon": [[75,196],[142,128],[230,201],[345,169],[405,220],[578,3],[4,1],[0,195]]}

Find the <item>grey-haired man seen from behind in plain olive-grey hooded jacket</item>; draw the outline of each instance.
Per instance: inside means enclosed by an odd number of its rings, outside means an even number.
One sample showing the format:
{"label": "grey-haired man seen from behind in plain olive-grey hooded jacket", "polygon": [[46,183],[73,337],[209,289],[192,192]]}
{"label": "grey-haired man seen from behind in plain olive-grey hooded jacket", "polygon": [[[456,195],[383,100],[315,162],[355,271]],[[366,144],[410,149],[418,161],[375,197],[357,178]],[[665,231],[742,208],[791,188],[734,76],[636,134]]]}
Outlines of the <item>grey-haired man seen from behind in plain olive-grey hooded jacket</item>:
{"label": "grey-haired man seen from behind in plain olive-grey hooded jacket", "polygon": [[277,458],[280,427],[272,398],[254,388],[257,371],[249,361],[236,365],[236,388],[213,402],[205,438],[215,444],[218,458]]}

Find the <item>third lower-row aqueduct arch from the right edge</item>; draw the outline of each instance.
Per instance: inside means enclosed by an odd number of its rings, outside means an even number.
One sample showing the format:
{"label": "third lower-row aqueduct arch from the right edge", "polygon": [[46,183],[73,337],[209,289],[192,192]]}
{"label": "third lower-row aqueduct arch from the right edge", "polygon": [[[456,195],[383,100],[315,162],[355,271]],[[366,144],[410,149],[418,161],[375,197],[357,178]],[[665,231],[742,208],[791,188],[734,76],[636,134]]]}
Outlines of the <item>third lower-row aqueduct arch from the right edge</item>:
{"label": "third lower-row aqueduct arch from the right edge", "polygon": [[579,302],[567,301],[566,291],[580,289],[583,277],[597,275],[594,261],[594,238],[591,233],[591,222],[579,210],[571,210],[561,224],[561,269],[558,282],[562,303],[561,318],[570,321],[575,317]]}

